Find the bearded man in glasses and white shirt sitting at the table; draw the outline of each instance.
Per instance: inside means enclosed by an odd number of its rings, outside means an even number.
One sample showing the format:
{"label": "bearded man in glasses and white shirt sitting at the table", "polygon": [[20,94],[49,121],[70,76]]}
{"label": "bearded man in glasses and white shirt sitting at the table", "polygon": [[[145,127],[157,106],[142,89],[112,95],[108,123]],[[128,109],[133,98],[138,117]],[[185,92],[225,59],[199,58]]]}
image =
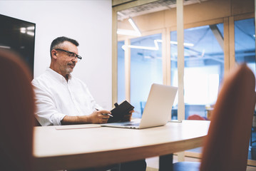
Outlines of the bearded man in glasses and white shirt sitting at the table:
{"label": "bearded man in glasses and white shirt sitting at the table", "polygon": [[[36,118],[45,125],[107,123],[111,114],[96,104],[85,83],[71,76],[78,56],[78,42],[58,37],[51,43],[51,65],[32,84],[36,94]],[[126,115],[130,120],[132,111]],[[145,170],[145,160],[121,164],[121,170]]]}

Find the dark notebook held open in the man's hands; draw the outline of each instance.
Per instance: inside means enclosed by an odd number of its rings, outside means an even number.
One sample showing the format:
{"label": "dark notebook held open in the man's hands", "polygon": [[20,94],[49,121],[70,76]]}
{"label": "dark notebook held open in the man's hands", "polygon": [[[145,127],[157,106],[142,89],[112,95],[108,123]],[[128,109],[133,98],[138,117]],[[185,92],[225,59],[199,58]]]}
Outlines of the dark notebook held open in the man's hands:
{"label": "dark notebook held open in the man's hands", "polygon": [[108,123],[118,123],[126,121],[124,120],[125,116],[129,114],[130,110],[133,110],[133,105],[130,105],[128,101],[124,100],[120,105],[115,103],[115,108],[111,110],[111,115],[113,117],[108,118]]}

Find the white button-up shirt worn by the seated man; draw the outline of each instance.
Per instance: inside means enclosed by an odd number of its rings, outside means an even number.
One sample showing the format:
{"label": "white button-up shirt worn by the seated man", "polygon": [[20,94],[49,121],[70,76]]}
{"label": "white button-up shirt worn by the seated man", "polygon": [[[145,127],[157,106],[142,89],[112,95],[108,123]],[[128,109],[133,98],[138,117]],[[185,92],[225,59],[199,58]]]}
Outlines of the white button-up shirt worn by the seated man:
{"label": "white button-up shirt worn by the seated man", "polygon": [[47,68],[32,81],[36,95],[36,118],[42,126],[61,125],[64,116],[90,115],[102,109],[96,104],[85,83]]}

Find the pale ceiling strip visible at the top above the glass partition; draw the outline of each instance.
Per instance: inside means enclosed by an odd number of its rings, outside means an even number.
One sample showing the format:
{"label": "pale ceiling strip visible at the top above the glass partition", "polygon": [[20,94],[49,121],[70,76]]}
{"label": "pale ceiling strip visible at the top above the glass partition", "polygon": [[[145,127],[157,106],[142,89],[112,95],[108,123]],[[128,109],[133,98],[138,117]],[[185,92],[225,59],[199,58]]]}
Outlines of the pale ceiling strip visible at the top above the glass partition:
{"label": "pale ceiling strip visible at the top above the glass partition", "polygon": [[[198,4],[208,0],[183,0],[183,5]],[[156,11],[163,11],[166,9],[173,9],[176,7],[176,0],[160,0],[141,6],[135,6],[130,9],[118,11],[118,21],[128,19],[133,16],[140,16],[143,14],[149,14]]]}

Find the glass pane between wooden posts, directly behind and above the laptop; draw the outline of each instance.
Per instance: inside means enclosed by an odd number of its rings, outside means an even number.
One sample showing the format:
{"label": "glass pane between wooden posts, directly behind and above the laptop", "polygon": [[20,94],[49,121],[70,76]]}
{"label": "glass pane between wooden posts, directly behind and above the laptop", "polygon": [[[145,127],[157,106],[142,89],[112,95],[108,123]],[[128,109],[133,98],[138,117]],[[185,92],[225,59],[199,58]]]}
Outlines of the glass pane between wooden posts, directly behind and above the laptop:
{"label": "glass pane between wooden posts, directly behind and above the laptop", "polygon": [[152,83],[163,83],[161,34],[130,40],[130,103],[140,118]]}

